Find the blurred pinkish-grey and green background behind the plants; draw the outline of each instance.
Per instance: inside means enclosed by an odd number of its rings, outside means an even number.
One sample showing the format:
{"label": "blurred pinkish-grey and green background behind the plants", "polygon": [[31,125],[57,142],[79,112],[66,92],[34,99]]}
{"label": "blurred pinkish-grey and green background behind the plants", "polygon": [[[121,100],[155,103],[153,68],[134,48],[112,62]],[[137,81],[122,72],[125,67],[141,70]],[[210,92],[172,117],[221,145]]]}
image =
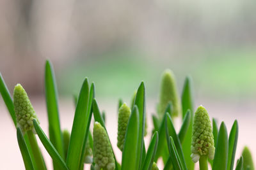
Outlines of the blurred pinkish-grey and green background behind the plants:
{"label": "blurred pinkish-grey and green background behind the plants", "polygon": [[[16,83],[23,85],[47,131],[45,59],[54,66],[61,124],[68,129],[72,95],[84,77],[95,82],[108,121],[116,121],[118,99],[129,103],[141,80],[148,115],[154,113],[161,73],[170,68],[180,93],[185,77],[193,78],[195,106],[203,104],[211,117],[225,120],[228,131],[238,120],[237,156],[247,144],[256,160],[255,7],[253,0],[2,0],[0,71],[11,93]],[[23,169],[3,99],[0,108],[0,128],[10,127],[0,141],[0,149],[10,150],[0,154],[1,166]],[[115,143],[116,125],[108,128]],[[19,157],[16,165],[8,162],[13,154]]]}

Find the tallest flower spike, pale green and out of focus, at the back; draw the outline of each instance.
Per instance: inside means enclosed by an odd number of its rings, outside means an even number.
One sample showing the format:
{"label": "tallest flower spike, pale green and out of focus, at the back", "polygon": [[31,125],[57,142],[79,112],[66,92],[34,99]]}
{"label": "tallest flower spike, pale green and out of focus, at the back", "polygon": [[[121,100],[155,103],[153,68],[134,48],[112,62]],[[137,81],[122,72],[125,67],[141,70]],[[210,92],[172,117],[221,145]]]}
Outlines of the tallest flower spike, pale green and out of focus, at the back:
{"label": "tallest flower spike, pale green and out of focus, at the back", "polygon": [[157,106],[157,111],[160,118],[163,117],[166,106],[170,101],[173,106],[172,117],[177,117],[182,112],[175,76],[170,69],[166,69],[163,73],[159,97],[160,101]]}

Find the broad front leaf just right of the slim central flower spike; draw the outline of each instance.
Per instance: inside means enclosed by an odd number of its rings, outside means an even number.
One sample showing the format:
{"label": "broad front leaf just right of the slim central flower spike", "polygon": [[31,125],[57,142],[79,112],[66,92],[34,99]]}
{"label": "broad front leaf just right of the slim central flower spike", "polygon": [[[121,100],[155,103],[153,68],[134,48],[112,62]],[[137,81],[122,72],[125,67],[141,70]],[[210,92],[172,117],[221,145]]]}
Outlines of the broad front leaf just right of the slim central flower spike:
{"label": "broad front leaf just right of the slim central flower spike", "polygon": [[138,159],[140,159],[140,155],[138,155],[137,149],[140,145],[138,143],[139,135],[140,118],[138,108],[135,105],[132,109],[125,133],[121,170],[139,169]]}

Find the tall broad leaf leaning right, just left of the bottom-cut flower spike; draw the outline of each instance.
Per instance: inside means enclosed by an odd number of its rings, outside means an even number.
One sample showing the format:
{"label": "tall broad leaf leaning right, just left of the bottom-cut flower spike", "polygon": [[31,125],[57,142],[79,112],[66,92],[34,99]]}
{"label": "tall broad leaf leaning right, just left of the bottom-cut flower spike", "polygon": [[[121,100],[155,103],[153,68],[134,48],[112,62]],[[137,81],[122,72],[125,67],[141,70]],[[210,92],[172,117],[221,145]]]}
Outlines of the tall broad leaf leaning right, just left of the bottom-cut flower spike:
{"label": "tall broad leaf leaning right, just left of the bottom-cut flower spike", "polygon": [[88,124],[90,124],[92,115],[88,112],[89,103],[89,84],[85,78],[81,88],[76,106],[70,143],[68,146],[67,166],[70,170],[79,169],[79,163],[82,157],[82,149],[86,132],[88,132]]}

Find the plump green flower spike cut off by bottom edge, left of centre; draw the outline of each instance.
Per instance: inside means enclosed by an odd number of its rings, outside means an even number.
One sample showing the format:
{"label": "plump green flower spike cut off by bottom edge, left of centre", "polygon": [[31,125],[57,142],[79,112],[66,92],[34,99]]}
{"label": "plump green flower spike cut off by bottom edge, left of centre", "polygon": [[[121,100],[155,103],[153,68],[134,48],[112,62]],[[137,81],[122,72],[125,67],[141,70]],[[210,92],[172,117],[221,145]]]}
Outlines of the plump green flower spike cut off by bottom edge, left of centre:
{"label": "plump green flower spike cut off by bottom edge, left of centre", "polygon": [[93,162],[95,162],[95,170],[115,169],[115,159],[108,134],[99,122],[95,122],[93,127]]}

